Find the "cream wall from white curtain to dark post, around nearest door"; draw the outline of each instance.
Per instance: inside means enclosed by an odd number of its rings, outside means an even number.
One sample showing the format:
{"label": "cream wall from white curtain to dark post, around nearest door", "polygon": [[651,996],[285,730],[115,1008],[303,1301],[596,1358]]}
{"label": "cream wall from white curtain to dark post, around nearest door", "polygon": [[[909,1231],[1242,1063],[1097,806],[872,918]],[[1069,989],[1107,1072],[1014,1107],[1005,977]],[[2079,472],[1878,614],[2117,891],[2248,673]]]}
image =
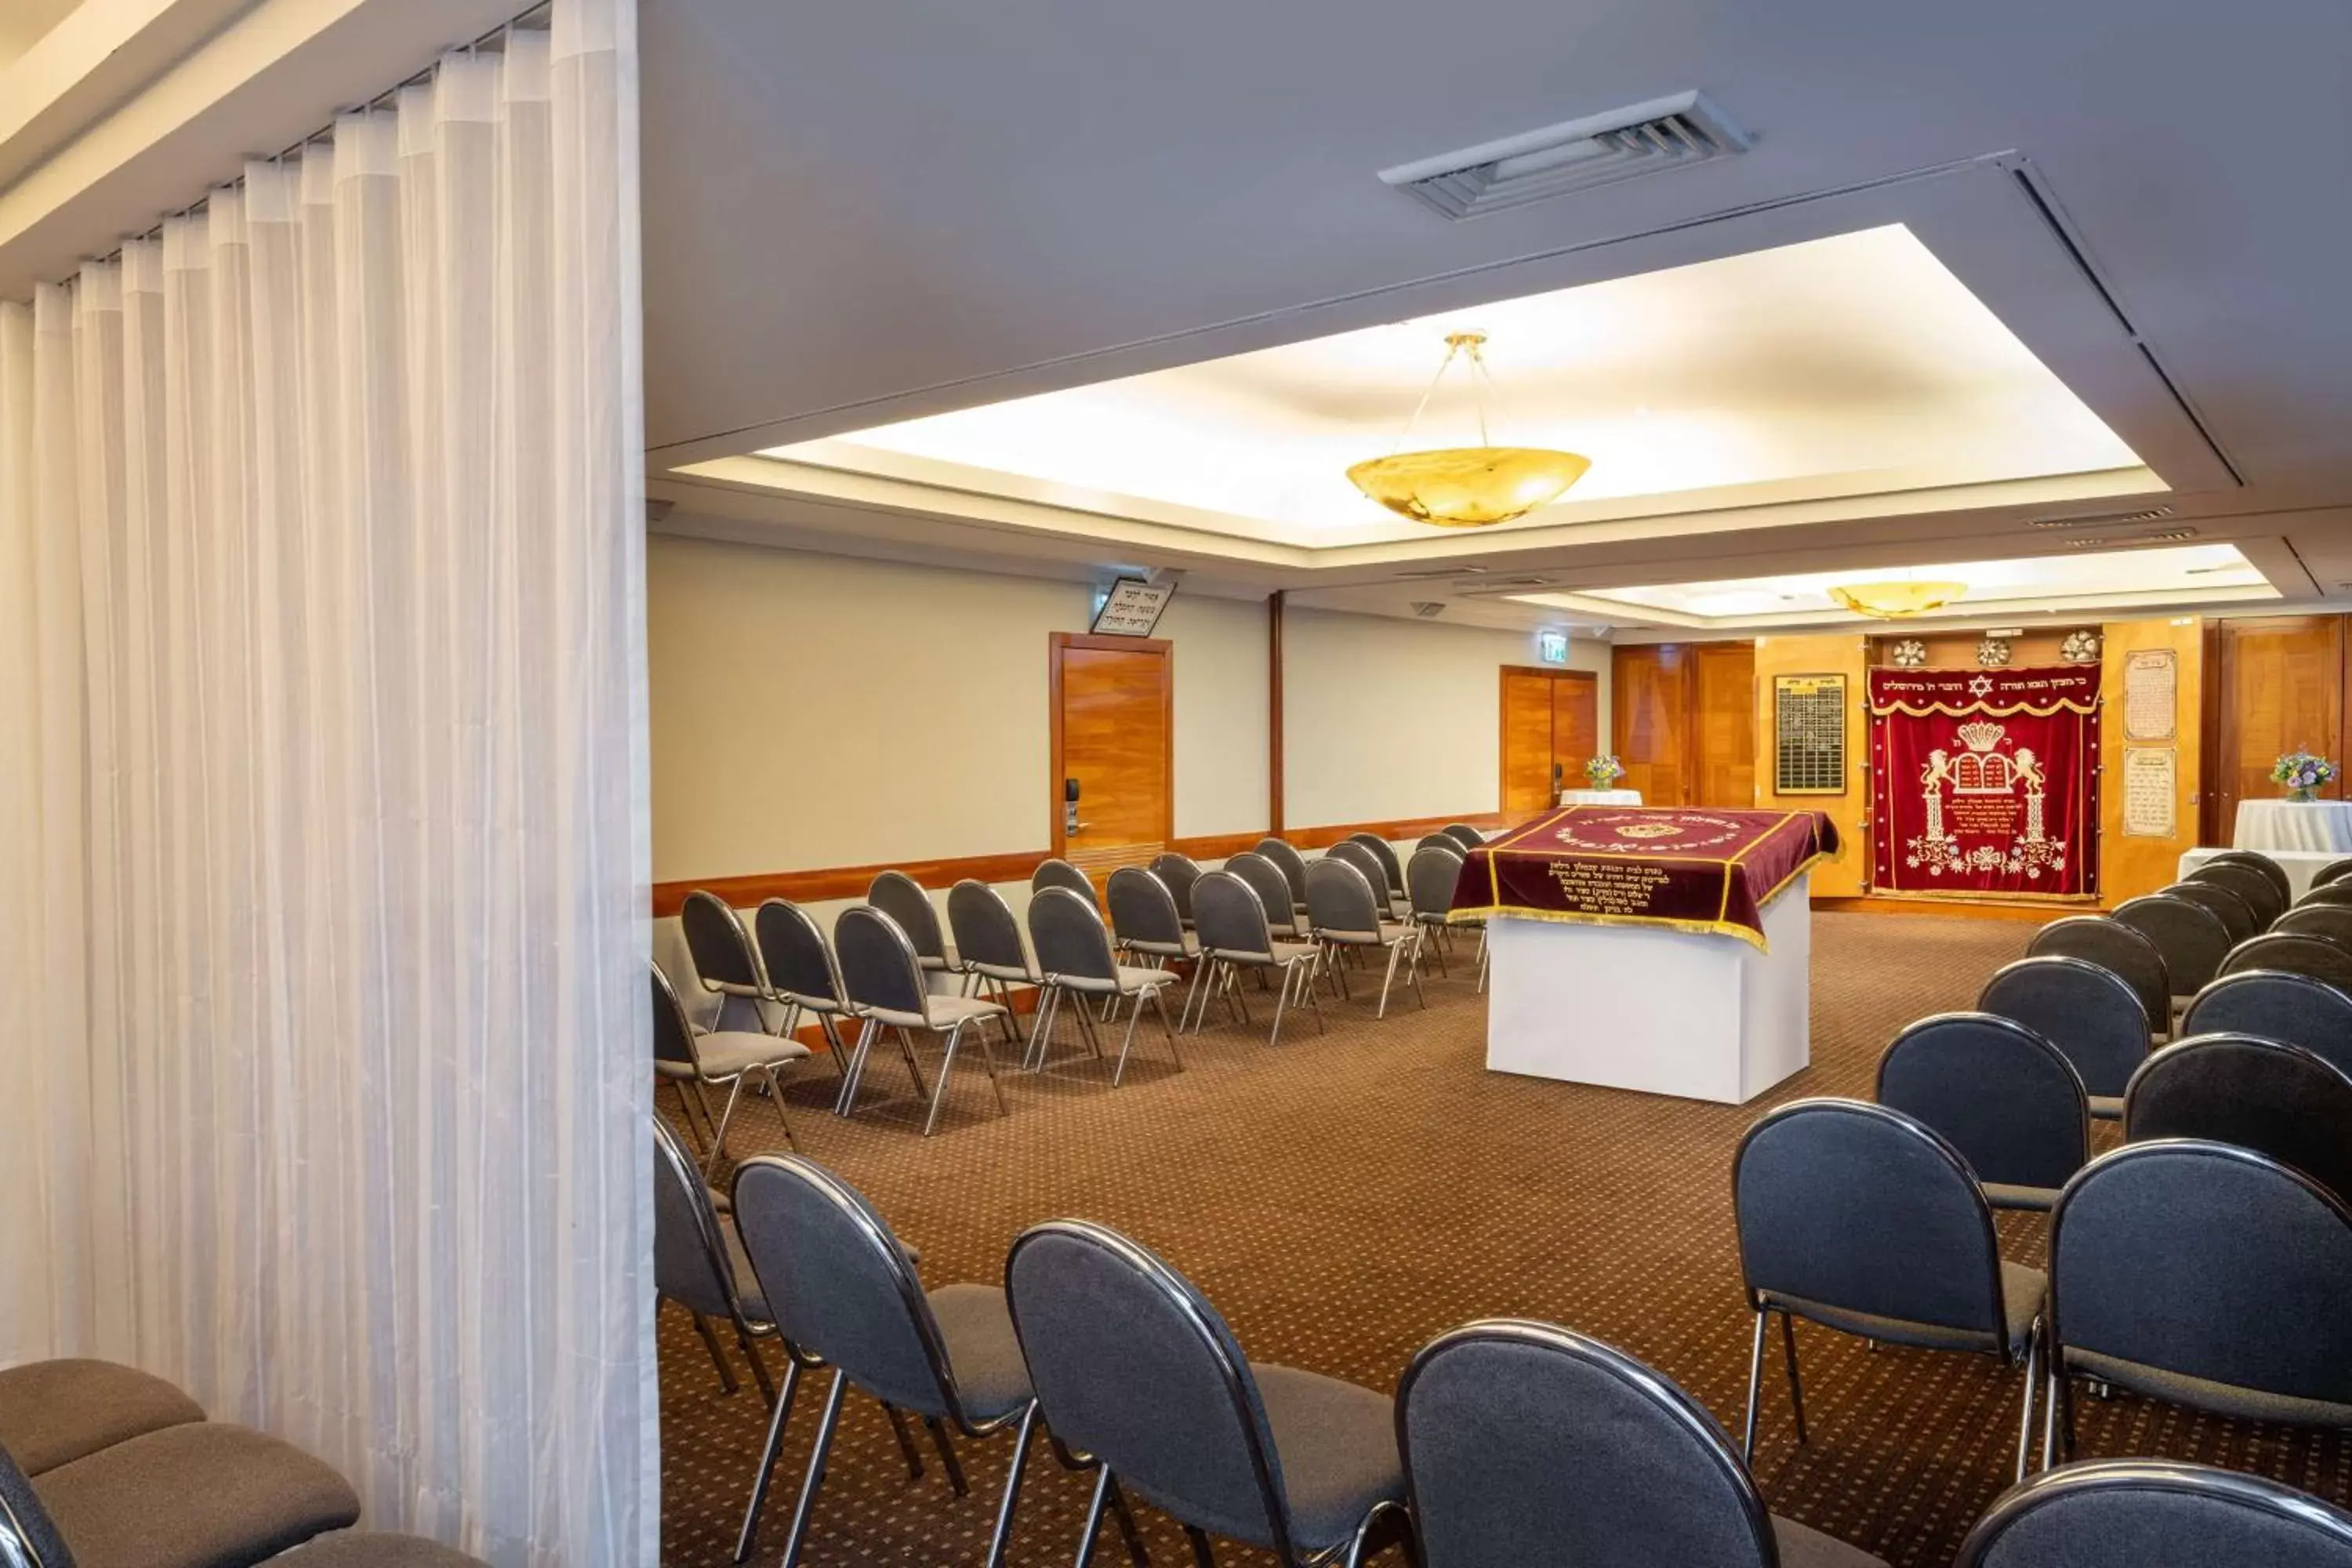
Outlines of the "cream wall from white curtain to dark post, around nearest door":
{"label": "cream wall from white curtain to dark post, around nearest door", "polygon": [[[1087,588],[647,548],[654,879],[1042,851],[1047,635]],[[1265,607],[1176,595],[1176,832],[1265,825]]]}

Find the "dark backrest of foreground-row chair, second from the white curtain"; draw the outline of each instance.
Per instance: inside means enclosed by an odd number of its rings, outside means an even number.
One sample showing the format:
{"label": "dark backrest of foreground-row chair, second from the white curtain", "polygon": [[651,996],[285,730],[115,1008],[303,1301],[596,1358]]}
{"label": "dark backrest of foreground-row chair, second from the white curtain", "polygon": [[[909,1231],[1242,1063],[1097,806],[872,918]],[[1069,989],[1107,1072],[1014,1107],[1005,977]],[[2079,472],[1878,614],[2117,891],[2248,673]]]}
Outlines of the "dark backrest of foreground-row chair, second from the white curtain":
{"label": "dark backrest of foreground-row chair, second from the white curtain", "polygon": [[800,1154],[753,1154],[736,1168],[734,1220],[786,1340],[884,1403],[962,1415],[915,1265],[849,1182]]}

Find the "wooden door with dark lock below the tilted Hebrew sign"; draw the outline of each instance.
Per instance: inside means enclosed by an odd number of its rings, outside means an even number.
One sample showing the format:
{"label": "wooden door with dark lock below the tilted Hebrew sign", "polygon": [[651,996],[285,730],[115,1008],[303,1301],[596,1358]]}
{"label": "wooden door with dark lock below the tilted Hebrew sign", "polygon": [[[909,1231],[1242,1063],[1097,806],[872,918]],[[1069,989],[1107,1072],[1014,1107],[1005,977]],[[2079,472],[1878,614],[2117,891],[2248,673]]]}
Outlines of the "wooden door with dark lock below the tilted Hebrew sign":
{"label": "wooden door with dark lock below the tilted Hebrew sign", "polygon": [[[1051,844],[1101,882],[1120,865],[1145,865],[1176,832],[1176,651],[1157,637],[1054,632],[1049,656]],[[1075,813],[1063,780],[1077,780]]]}

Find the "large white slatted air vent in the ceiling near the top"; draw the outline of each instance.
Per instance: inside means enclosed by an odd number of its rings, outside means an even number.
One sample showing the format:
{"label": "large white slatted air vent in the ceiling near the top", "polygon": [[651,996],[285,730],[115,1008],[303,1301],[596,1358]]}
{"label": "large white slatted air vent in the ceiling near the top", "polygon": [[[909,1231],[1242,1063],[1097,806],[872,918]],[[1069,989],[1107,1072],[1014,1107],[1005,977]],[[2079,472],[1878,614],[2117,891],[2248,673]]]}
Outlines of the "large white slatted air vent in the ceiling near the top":
{"label": "large white slatted air vent in the ceiling near the top", "polygon": [[1677,92],[1672,99],[1381,169],[1381,181],[1461,221],[1639,174],[1715,162],[1745,153],[1748,146],[1748,134],[1703,94]]}

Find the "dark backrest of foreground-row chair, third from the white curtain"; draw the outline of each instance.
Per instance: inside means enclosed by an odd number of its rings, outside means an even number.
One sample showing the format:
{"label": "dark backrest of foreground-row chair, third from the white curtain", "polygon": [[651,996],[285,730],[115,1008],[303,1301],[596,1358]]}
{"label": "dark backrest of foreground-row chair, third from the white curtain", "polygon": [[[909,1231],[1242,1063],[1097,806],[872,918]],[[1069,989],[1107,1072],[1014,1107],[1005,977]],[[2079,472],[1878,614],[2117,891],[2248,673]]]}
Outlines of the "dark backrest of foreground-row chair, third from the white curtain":
{"label": "dark backrest of foreground-row chair, third from the white curtain", "polygon": [[1258,1385],[1200,1291],[1112,1229],[1051,1220],[1014,1239],[1004,1293],[1054,1436],[1183,1523],[1294,1561]]}

